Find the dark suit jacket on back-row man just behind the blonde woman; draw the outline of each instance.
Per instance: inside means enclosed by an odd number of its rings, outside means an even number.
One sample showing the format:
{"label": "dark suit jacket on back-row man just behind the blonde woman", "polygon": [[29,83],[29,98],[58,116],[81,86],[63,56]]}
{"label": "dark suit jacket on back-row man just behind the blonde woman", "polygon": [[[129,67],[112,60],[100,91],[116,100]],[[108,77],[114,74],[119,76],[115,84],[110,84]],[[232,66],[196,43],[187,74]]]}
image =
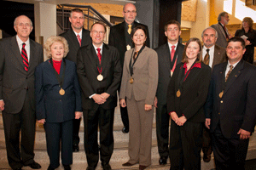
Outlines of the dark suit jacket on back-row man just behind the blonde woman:
{"label": "dark suit jacket on back-row man just behind the blonde woman", "polygon": [[[69,59],[75,63],[77,63],[77,55],[80,48],[78,38],[76,37],[73,29],[69,29],[68,31],[62,33],[61,37],[65,37],[68,43],[69,52],[66,56],[66,59]],[[81,47],[87,46],[91,43],[90,31],[83,29],[82,31],[82,42]]]}

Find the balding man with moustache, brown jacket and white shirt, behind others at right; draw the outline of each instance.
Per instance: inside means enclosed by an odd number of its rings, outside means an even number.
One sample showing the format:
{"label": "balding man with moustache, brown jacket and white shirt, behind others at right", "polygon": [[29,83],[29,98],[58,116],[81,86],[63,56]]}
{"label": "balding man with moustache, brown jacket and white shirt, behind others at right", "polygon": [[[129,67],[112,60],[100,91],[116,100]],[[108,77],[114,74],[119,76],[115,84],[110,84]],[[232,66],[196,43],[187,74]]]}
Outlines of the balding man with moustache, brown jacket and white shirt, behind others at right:
{"label": "balding man with moustache, brown jacket and white shirt, behind others at right", "polygon": [[[225,48],[221,48],[215,44],[218,38],[218,32],[212,28],[207,27],[201,34],[204,46],[202,48],[202,60],[206,65],[209,65],[212,69],[214,65],[223,63],[226,61]],[[211,161],[212,154],[212,139],[207,127],[203,128],[203,145],[202,151],[204,153],[203,161]]]}

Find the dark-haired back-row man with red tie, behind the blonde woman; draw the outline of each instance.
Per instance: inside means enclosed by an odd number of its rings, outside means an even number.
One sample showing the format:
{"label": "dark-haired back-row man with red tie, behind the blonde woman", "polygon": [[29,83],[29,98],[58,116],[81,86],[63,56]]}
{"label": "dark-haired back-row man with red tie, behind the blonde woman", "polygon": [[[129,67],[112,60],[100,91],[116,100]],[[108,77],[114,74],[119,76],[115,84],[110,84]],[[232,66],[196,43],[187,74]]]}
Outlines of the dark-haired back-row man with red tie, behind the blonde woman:
{"label": "dark-haired back-row man with red tie, behind the blonde woman", "polygon": [[[65,37],[68,43],[69,52],[66,59],[77,63],[78,50],[82,46],[91,43],[90,31],[84,29],[84,13],[79,8],[71,10],[69,21],[71,29],[62,33],[60,36]],[[79,128],[81,119],[73,119],[73,152],[79,151]]]}

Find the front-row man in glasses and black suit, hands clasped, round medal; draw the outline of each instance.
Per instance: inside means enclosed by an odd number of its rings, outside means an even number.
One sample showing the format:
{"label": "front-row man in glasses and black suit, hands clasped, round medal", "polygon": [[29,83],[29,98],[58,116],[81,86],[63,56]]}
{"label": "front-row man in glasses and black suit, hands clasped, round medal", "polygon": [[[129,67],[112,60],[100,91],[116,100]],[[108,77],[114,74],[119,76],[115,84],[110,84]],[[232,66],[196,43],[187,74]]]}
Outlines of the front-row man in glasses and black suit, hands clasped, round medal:
{"label": "front-row man in glasses and black suit, hands clasped, round medal", "polygon": [[[92,44],[78,52],[78,77],[82,88],[84,113],[84,150],[87,170],[96,169],[99,151],[104,170],[113,153],[113,113],[117,105],[117,89],[121,81],[121,65],[116,48],[103,43],[106,26],[96,22],[90,29]],[[100,147],[97,129],[100,129]]]}

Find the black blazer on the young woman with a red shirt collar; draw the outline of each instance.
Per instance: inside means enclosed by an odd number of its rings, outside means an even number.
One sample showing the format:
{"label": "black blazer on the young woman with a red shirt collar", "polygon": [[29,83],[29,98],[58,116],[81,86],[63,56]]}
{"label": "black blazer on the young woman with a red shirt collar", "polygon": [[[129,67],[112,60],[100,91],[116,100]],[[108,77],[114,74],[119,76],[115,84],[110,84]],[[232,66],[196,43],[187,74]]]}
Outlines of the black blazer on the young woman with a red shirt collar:
{"label": "black blazer on the young woman with a red shirt collar", "polygon": [[207,100],[208,87],[211,80],[211,68],[201,63],[201,68],[193,68],[183,82],[181,96],[178,75],[183,74],[183,63],[176,66],[167,90],[167,111],[175,111],[177,116],[185,116],[189,122],[205,122],[203,105]]}

